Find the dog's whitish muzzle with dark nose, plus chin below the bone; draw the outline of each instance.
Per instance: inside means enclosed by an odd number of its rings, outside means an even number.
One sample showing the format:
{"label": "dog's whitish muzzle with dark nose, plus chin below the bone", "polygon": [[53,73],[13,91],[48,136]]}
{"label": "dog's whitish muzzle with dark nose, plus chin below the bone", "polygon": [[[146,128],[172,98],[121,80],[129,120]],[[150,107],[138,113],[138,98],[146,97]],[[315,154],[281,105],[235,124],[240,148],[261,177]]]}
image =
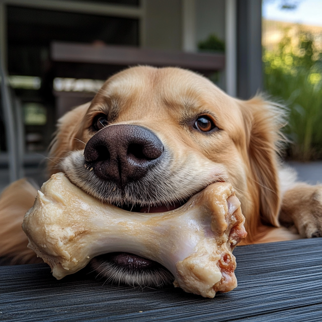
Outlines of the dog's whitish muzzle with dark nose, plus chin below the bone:
{"label": "dog's whitish muzzle with dark nose, plus chin below the bone", "polygon": [[[112,204],[133,215],[164,213],[226,178],[207,158],[193,150],[178,156],[172,150],[176,145],[169,143],[142,126],[110,125],[97,132],[84,151],[70,152],[60,167],[75,186],[102,205]],[[128,285],[161,286],[174,278],[152,260],[129,253],[101,255],[92,260],[92,267],[107,281]]]}

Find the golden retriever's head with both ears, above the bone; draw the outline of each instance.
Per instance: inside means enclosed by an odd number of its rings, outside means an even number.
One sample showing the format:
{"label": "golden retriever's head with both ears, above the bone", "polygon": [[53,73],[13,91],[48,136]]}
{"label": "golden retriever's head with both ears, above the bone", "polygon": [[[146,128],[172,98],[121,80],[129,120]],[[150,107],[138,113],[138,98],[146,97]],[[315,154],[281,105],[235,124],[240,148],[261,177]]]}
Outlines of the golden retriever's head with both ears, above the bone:
{"label": "golden retriever's head with both ears, above the bone", "polygon": [[174,209],[230,182],[252,238],[260,220],[278,225],[277,139],[278,114],[260,98],[233,99],[180,68],[139,66],[59,120],[51,157],[79,188],[132,211]]}

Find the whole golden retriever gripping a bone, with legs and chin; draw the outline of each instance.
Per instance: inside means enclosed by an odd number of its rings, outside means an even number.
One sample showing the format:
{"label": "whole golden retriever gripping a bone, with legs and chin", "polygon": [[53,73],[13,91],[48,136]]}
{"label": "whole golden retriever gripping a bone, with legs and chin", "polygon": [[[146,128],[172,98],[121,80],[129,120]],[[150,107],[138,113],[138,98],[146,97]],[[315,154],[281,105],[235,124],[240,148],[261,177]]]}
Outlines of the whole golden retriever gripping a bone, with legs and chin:
{"label": "whole golden retriever gripping a bone, with legs and chin", "polygon": [[[274,104],[231,98],[194,72],[132,67],[58,121],[49,170],[64,172],[104,203],[136,212],[178,208],[209,184],[226,181],[246,217],[243,244],[320,236],[322,186],[296,183],[281,169],[283,122]],[[1,197],[0,256],[12,263],[37,261],[21,229],[35,196],[20,180]],[[102,255],[92,267],[132,285],[137,276],[144,285],[171,280],[164,268],[133,254]]]}

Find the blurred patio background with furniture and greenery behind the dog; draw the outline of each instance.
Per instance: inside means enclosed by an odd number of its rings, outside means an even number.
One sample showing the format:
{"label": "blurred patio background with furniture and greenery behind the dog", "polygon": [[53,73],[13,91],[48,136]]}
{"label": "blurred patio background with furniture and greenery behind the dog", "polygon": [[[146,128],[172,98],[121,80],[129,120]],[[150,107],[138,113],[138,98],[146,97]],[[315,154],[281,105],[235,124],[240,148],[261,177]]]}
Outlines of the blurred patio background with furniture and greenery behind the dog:
{"label": "blurred patio background with furniture and greenery behind the dog", "polygon": [[241,99],[268,93],[289,115],[283,157],[306,179],[299,161],[315,160],[322,179],[320,0],[0,0],[0,61],[0,191],[41,185],[57,119],[137,64],[198,71]]}

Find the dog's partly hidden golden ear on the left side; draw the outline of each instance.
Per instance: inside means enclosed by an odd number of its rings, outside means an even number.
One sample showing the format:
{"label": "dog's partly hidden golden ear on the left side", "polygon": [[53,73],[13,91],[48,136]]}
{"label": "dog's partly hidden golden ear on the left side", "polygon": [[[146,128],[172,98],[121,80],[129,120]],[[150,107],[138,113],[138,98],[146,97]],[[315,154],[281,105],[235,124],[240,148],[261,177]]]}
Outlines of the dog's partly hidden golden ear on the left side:
{"label": "dog's partly hidden golden ear on the left side", "polygon": [[69,151],[84,148],[82,140],[82,120],[91,102],[80,105],[63,115],[57,122],[55,136],[49,146],[48,170],[52,175],[59,171],[57,164]]}

